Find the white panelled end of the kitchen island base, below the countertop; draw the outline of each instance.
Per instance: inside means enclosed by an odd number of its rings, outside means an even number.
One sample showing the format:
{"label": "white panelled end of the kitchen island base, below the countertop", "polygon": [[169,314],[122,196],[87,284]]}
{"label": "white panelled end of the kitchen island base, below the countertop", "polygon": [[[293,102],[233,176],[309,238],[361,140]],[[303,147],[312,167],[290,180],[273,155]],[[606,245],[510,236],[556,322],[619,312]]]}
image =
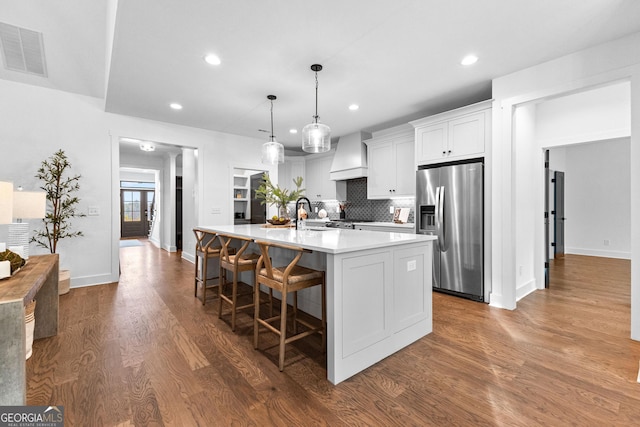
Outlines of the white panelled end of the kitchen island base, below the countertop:
{"label": "white panelled end of the kitchen island base, below the countertop", "polygon": [[433,330],[431,242],[327,254],[327,376],[338,384]]}

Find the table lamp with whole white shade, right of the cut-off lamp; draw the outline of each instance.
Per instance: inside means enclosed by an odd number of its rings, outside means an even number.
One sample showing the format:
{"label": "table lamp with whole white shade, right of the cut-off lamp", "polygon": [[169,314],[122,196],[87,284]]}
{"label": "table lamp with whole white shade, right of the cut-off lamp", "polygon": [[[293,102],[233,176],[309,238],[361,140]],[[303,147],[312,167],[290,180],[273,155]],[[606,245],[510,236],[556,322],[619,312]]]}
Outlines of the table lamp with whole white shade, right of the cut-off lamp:
{"label": "table lamp with whole white shade, right of the cut-off lamp", "polygon": [[[43,191],[14,191],[13,192],[13,217],[17,222],[9,225],[8,246],[22,247],[22,253],[18,254],[24,259],[29,259],[29,223],[23,219],[44,218],[47,214],[47,193]],[[15,251],[14,251],[15,252]]]}

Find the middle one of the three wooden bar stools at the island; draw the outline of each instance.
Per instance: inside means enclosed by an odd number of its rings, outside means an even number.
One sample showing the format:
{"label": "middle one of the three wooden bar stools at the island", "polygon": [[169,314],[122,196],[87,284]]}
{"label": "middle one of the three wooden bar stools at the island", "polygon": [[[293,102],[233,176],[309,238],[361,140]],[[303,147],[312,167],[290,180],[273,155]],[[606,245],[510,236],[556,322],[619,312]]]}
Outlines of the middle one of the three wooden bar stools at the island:
{"label": "middle one of the three wooden bar stools at the island", "polygon": [[[243,271],[254,271],[256,264],[258,263],[258,258],[260,255],[255,253],[246,252],[249,244],[253,241],[253,239],[246,237],[230,237],[222,234],[218,234],[218,238],[220,239],[220,286],[218,287],[218,299],[220,300],[220,307],[218,309],[218,319],[222,318],[222,306],[223,302],[231,305],[231,330],[236,330],[236,311],[244,310],[246,308],[253,307],[253,300],[249,304],[238,306],[238,296],[250,295],[249,294],[241,294],[238,295],[238,275]],[[242,247],[240,250],[233,254],[234,248],[229,247],[229,244],[233,239],[242,241]],[[227,296],[224,293],[224,290],[229,284],[227,280],[227,271],[230,271],[233,275],[233,284],[231,287],[231,295]],[[255,282],[252,281],[253,284]],[[241,282],[242,283],[242,282]]]}

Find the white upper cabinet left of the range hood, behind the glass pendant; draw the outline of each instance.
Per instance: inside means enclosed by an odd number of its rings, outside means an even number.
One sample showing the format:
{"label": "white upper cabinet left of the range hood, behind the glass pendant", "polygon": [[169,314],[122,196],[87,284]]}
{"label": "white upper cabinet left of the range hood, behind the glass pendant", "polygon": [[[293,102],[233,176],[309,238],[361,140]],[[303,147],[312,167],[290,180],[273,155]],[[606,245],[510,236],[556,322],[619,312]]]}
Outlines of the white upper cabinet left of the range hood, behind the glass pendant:
{"label": "white upper cabinet left of the range hood, behind the glass pendant", "polygon": [[334,151],[329,154],[313,154],[305,156],[306,184],[305,196],[315,200],[346,200],[346,181],[329,179]]}

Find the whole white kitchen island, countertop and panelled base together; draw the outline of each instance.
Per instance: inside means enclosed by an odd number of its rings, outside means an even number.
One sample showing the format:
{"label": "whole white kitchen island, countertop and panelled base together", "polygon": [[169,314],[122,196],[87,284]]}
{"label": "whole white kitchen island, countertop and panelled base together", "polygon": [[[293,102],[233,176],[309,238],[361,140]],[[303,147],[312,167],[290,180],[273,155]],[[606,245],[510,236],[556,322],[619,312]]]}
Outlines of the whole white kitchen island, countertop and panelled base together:
{"label": "whole white kitchen island, countertop and panelled base together", "polygon": [[[197,228],[313,251],[299,264],[326,271],[327,377],[333,384],[432,331],[433,236],[259,224]],[[288,263],[288,252],[273,251],[274,264]],[[319,290],[301,291],[299,299],[301,310],[320,316]]]}

